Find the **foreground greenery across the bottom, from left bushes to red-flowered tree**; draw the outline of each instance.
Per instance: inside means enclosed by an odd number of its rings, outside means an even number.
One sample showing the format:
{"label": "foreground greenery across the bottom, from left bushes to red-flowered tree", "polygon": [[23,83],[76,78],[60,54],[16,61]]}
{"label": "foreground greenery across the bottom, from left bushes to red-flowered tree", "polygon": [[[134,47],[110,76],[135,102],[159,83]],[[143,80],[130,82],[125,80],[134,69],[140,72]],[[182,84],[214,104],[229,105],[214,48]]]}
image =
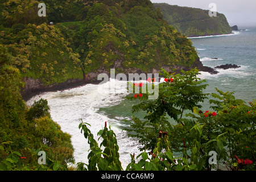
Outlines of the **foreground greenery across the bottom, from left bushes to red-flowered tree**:
{"label": "foreground greenery across the bottom, from left bushes to red-flowered tree", "polygon": [[[242,100],[237,100],[233,93],[224,93],[218,89],[217,93],[204,94],[203,90],[207,85],[203,84],[205,80],[197,78],[198,70],[183,73],[174,75],[163,70],[166,82],[159,85],[159,97],[156,100],[148,100],[150,93],[143,93],[141,97],[127,96],[131,100],[139,100],[138,104],[133,106],[133,112],[144,110],[147,114],[143,121],[133,117],[133,121],[130,122],[131,129],[126,129],[132,132],[130,136],[137,137],[144,147],[138,156],[131,151],[131,163],[125,170],[255,170],[256,101],[247,105]],[[209,101],[214,111],[200,110],[200,102],[208,95],[213,98]],[[113,130],[106,126],[106,122],[104,129],[97,133],[102,138],[100,146],[88,128],[89,124],[80,123],[79,129],[90,145],[89,161],[88,164],[80,162],[75,167],[67,167],[65,162],[72,162],[70,136],[62,133],[60,127],[49,118],[48,109],[46,100],[35,102],[24,114],[27,120],[16,123],[16,126],[19,125],[20,133],[26,130],[27,135],[19,135],[15,142],[1,141],[1,169],[123,170],[119,161],[118,141]],[[190,112],[185,114],[184,118],[185,110]],[[167,115],[174,118],[177,124],[171,125]],[[18,130],[14,126],[9,126],[9,129]],[[2,127],[2,134],[5,130]],[[3,134],[5,138],[8,136],[6,133]],[[9,137],[13,140],[14,135]],[[38,150],[27,148],[32,145],[29,142],[30,138],[38,141],[34,143],[40,145]],[[39,150],[47,151],[46,165],[36,163],[36,152]],[[211,163],[214,162],[211,151],[216,152],[215,163]]]}

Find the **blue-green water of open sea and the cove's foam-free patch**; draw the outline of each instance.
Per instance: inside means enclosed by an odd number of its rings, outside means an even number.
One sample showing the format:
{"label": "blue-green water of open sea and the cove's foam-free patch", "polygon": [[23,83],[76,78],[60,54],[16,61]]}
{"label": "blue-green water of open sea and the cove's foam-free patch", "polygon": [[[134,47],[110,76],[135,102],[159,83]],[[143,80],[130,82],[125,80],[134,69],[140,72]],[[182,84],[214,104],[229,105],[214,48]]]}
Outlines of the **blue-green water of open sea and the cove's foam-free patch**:
{"label": "blue-green water of open sea and the cove's foam-free patch", "polygon": [[[200,78],[206,79],[209,85],[205,93],[216,93],[215,88],[218,88],[223,92],[235,92],[234,96],[245,102],[256,99],[256,27],[234,31],[232,35],[191,38],[191,41],[203,65],[212,68],[222,64],[241,66],[237,69],[216,69],[217,75],[200,72]],[[119,126],[125,126],[122,119],[129,119],[131,115],[143,118],[143,112],[131,113],[134,104],[135,101],[124,98],[118,105],[100,108],[99,113],[108,115]],[[204,110],[210,107],[208,100],[201,105]]]}

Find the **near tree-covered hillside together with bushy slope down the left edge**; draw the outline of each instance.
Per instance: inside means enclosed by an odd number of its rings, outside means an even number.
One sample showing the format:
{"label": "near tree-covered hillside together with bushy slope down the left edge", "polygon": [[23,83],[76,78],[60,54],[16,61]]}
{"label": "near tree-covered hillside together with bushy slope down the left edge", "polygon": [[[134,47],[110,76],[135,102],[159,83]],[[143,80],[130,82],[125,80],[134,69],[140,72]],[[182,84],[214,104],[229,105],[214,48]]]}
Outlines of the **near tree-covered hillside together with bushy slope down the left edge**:
{"label": "near tree-covered hillside together with bushy slope down the left edge", "polygon": [[110,68],[151,72],[189,68],[199,60],[192,42],[150,1],[44,2],[46,17],[37,14],[39,1],[0,1],[0,169],[42,168],[35,167],[39,150],[53,169],[73,160],[71,136],[52,121],[47,101],[28,108],[20,94],[24,86],[27,93],[92,81]]}

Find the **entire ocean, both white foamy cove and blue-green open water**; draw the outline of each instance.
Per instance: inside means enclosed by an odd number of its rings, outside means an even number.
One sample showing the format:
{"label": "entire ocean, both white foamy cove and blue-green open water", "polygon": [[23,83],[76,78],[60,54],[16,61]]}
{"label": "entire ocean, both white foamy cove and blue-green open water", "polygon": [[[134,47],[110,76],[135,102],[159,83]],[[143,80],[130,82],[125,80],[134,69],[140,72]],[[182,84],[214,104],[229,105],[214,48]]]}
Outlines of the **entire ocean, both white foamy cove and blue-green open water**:
{"label": "entire ocean, both white foamy cove and blue-green open water", "polygon": [[[203,65],[212,68],[222,64],[241,66],[237,69],[216,69],[219,72],[217,75],[200,72],[199,77],[207,79],[209,85],[205,93],[214,93],[215,88],[218,88],[224,92],[235,92],[236,98],[246,102],[256,99],[256,27],[245,29],[233,31],[234,34],[230,35],[189,38]],[[111,84],[115,84],[115,92],[112,92]],[[130,163],[130,154],[135,153],[137,156],[141,152],[138,150],[138,139],[127,137],[122,130],[127,127],[123,119],[129,120],[131,115],[142,118],[144,115],[143,112],[131,113],[131,107],[136,103],[126,100],[127,94],[125,81],[110,80],[102,85],[87,84],[64,91],[42,93],[32,97],[27,104],[32,105],[40,98],[47,99],[53,121],[61,126],[61,130],[72,135],[76,163],[88,163],[89,144],[79,130],[81,119],[90,123],[89,129],[96,139],[98,131],[108,121],[108,127],[117,135],[120,160],[125,169]],[[201,104],[204,110],[210,107],[207,100]]]}

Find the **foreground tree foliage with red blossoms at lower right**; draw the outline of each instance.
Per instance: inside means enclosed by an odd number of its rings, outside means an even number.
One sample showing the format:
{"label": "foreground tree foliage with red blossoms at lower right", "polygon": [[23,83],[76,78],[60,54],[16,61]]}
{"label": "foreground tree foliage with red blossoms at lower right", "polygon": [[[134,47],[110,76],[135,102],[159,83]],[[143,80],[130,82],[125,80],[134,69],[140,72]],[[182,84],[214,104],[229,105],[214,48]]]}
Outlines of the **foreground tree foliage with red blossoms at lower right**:
{"label": "foreground tree foliage with red blossoms at lower right", "polygon": [[[125,130],[139,139],[141,150],[148,149],[155,155],[150,162],[160,163],[163,159],[162,169],[168,169],[166,163],[176,159],[183,166],[177,164],[171,170],[255,170],[256,100],[246,104],[237,100],[233,92],[224,93],[217,88],[216,93],[204,94],[207,85],[197,77],[198,71],[183,73],[163,71],[166,82],[159,84],[156,100],[148,100],[149,93],[138,98],[127,96],[140,101],[133,106],[133,113],[144,110],[147,114],[143,120],[133,117],[127,121],[131,129]],[[212,98],[209,100],[212,110],[203,111],[200,102],[208,97]],[[189,112],[184,117],[185,110]],[[174,119],[176,125],[171,125],[168,117]],[[216,164],[209,164],[210,151],[217,154]]]}

